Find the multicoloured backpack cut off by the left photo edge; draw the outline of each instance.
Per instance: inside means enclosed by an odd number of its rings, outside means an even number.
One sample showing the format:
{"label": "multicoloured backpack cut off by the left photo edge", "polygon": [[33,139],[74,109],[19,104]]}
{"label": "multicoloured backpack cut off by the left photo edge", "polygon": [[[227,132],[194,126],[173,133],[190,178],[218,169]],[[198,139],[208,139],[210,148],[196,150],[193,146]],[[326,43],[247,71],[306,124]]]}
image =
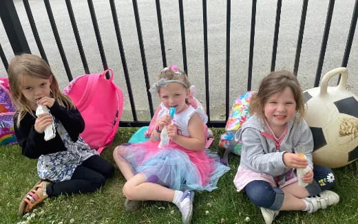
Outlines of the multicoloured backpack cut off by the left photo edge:
{"label": "multicoloured backpack cut off by the left photo edge", "polygon": [[10,98],[8,78],[0,78],[0,145],[17,142],[12,120],[15,111]]}

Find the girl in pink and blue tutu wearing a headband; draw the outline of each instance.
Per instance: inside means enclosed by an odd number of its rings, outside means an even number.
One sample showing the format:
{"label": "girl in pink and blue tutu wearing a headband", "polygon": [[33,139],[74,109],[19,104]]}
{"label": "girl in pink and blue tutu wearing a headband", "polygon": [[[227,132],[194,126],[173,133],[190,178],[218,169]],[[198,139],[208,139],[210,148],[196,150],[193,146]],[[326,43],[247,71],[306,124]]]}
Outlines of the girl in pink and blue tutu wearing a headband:
{"label": "girl in pink and blue tutu wearing a headband", "polygon": [[187,75],[175,65],[163,69],[150,89],[162,101],[150,139],[114,149],[114,160],[127,180],[123,186],[127,210],[139,201],[169,201],[178,206],[183,223],[190,223],[193,190],[214,190],[229,170],[205,150],[207,115],[189,103],[190,86]]}

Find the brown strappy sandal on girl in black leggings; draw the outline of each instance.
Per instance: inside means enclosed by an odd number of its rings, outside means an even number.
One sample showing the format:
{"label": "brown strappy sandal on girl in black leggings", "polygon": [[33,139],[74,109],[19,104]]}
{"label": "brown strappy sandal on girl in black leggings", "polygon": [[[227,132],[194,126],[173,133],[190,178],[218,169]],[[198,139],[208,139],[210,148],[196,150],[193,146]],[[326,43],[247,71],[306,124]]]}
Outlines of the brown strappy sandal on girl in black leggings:
{"label": "brown strappy sandal on girl in black leggings", "polygon": [[[19,215],[30,212],[34,206],[48,198],[48,194],[46,194],[46,186],[48,186],[48,182],[39,181],[27,194],[25,194],[25,197],[23,197],[19,206]],[[43,192],[38,192],[38,188],[43,188]],[[28,205],[28,210],[26,210],[26,205]]]}

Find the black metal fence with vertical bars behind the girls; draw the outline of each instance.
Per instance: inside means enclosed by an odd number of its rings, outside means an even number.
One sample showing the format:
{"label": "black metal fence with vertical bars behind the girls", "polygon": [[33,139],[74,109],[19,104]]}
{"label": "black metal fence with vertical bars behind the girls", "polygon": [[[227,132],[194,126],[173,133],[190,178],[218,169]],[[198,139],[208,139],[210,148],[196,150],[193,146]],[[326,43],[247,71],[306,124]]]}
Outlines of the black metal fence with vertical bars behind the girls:
{"label": "black metal fence with vertical bars behind the girls", "polygon": [[[81,41],[80,33],[78,32],[78,27],[76,24],[76,18],[74,16],[74,11],[72,10],[72,4],[70,0],[64,0],[67,12],[70,16],[70,21],[72,25],[72,30],[74,33],[74,36],[76,38],[76,45],[78,47],[78,52],[81,56],[81,61],[83,64],[83,69],[85,70],[85,73],[89,74],[89,66],[87,63],[87,58],[83,49],[83,44]],[[61,43],[61,38],[59,35],[59,31],[57,30],[56,21],[54,19],[53,10],[51,8],[50,0],[43,0],[45,4],[45,9],[47,12],[48,19],[50,20],[50,25],[52,27],[52,32],[54,34],[54,38],[56,40],[56,45],[59,49],[59,54],[61,56],[63,67],[65,68],[65,72],[67,74],[68,80],[72,80],[72,73],[70,70],[69,63],[67,62],[67,57],[65,54],[65,51],[63,49],[63,44]],[[166,57],[166,49],[165,49],[165,37],[163,32],[163,24],[162,24],[162,12],[160,8],[160,1],[156,0],[156,16],[158,19],[158,30],[159,30],[159,37],[160,37],[160,49],[162,54],[162,65],[163,67],[167,67],[167,57]],[[125,76],[125,82],[127,86],[127,93],[129,102],[131,105],[131,115],[133,117],[133,120],[129,121],[121,121],[120,126],[144,126],[149,124],[149,121],[140,121],[138,120],[136,107],[134,104],[134,93],[131,90],[131,79],[129,76],[129,71],[127,68],[127,60],[125,57],[125,51],[123,47],[122,42],[122,36],[120,32],[120,26],[118,24],[118,15],[116,10],[116,4],[114,0],[109,0],[110,8],[111,8],[111,14],[112,19],[114,23],[114,29],[116,32],[116,44],[118,45],[118,49],[120,52],[120,58],[121,63],[123,66],[123,72]],[[134,17],[136,21],[136,32],[138,35],[138,45],[140,48],[140,56],[142,60],[142,66],[143,66],[143,74],[145,78],[145,87],[147,88],[147,98],[148,98],[148,104],[149,104],[149,113],[152,116],[154,114],[154,108],[153,108],[153,102],[151,98],[151,94],[149,93],[148,89],[150,87],[149,84],[149,76],[148,76],[148,69],[147,69],[147,59],[145,56],[145,46],[143,43],[143,34],[142,29],[140,26],[140,14],[138,12],[138,3],[136,0],[132,1],[133,4],[133,10],[134,10]],[[23,5],[25,8],[25,12],[28,16],[28,21],[31,26],[32,34],[34,36],[34,40],[36,41],[36,45],[39,49],[39,53],[41,54],[42,58],[45,60],[48,60],[46,56],[46,52],[43,48],[43,43],[41,43],[41,38],[39,36],[38,29],[36,27],[36,23],[34,21],[34,16],[32,15],[32,9],[30,8],[30,4],[28,0],[23,0]],[[98,27],[97,17],[96,17],[96,11],[94,9],[94,4],[92,0],[87,0],[87,5],[89,8],[89,12],[92,19],[92,25],[94,27],[94,33],[96,36],[96,43],[98,45],[99,53],[101,55],[101,61],[103,65],[103,69],[107,69],[107,58],[105,54],[105,50],[103,48],[102,38],[101,38],[101,32]],[[231,1],[226,1],[227,6],[227,13],[226,13],[226,74],[225,74],[225,118],[227,119],[229,115],[229,109],[231,107],[231,101],[229,98],[229,83],[230,83],[230,47],[231,47]],[[319,85],[319,80],[322,75],[322,67],[324,64],[324,56],[326,53],[326,46],[328,42],[328,36],[330,31],[330,25],[331,20],[333,17],[333,10],[335,7],[335,0],[330,0],[328,3],[328,10],[326,12],[326,23],[324,26],[324,35],[322,39],[322,45],[321,50],[319,52],[319,60],[317,65],[317,71],[315,73],[315,82],[314,87],[317,87]],[[298,37],[297,37],[297,45],[295,50],[295,63],[293,66],[293,72],[297,74],[298,68],[299,68],[299,59],[301,56],[301,49],[302,49],[302,39],[304,36],[304,28],[305,28],[305,21],[306,21],[306,13],[308,9],[308,0],[303,0],[302,2],[302,9],[300,9],[301,12],[301,18],[299,23],[299,31],[298,31]],[[183,68],[187,72],[188,66],[187,66],[187,45],[186,45],[186,32],[185,32],[185,13],[183,9],[183,1],[178,0],[178,10],[179,10],[179,16],[180,16],[180,38],[181,38],[181,47],[182,47],[182,62],[183,62]],[[249,61],[248,61],[248,79],[247,79],[247,90],[251,90],[252,86],[252,78],[253,78],[253,49],[255,44],[255,22],[256,22],[256,10],[257,10],[257,1],[252,1],[252,8],[251,8],[251,29],[250,29],[250,46],[249,46]],[[281,10],[282,10],[282,0],[277,0],[277,6],[276,6],[276,12],[275,12],[275,31],[273,35],[273,47],[272,47],[272,59],[271,59],[271,71],[275,70],[276,65],[276,56],[277,56],[277,43],[278,43],[278,37],[280,32],[280,16],[281,16]],[[14,54],[20,54],[22,52],[28,52],[30,53],[30,47],[28,45],[28,41],[25,38],[23,28],[21,27],[21,22],[19,21],[19,17],[17,14],[17,9],[14,7],[14,1],[12,0],[2,0],[1,1],[1,7],[0,7],[0,15],[1,20],[3,22],[3,27],[6,30],[6,34],[8,36],[8,41],[10,41],[12,50]],[[352,48],[352,41],[354,38],[356,25],[357,25],[357,17],[358,17],[358,0],[355,1],[354,9],[352,10],[352,19],[350,21],[350,28],[348,32],[348,36],[346,38],[346,47],[344,50],[344,57],[341,62],[341,67],[347,67],[348,65],[348,59],[350,56],[350,50]],[[209,102],[209,54],[208,54],[208,17],[207,17],[207,1],[202,0],[202,27],[203,27],[203,38],[204,38],[204,86],[205,86],[205,105],[206,105],[206,111],[209,116],[209,126],[214,127],[223,127],[225,124],[225,121],[218,121],[218,120],[211,120],[210,113],[211,113],[211,107]],[[1,41],[0,41],[0,57],[3,63],[3,66],[7,69],[8,68],[8,58],[6,58],[6,55],[3,52],[3,48],[1,47]],[[225,119],[225,120],[226,120]]]}

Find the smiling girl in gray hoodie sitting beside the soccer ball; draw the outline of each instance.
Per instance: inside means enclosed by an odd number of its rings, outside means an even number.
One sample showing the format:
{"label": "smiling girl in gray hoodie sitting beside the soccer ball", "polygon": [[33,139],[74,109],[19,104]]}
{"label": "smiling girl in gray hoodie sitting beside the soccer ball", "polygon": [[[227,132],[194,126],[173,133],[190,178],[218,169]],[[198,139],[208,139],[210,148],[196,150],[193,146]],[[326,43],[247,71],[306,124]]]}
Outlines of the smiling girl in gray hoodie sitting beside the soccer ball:
{"label": "smiling girl in gray hoodie sitting beside the soccer ball", "polygon": [[[339,202],[335,176],[313,165],[313,136],[303,120],[304,100],[297,78],[288,71],[266,76],[250,102],[250,114],[235,140],[242,141],[240,166],[234,183],[260,206],[266,223],[280,210],[315,212]],[[295,149],[304,148],[304,157]],[[297,168],[307,168],[299,186]]]}

